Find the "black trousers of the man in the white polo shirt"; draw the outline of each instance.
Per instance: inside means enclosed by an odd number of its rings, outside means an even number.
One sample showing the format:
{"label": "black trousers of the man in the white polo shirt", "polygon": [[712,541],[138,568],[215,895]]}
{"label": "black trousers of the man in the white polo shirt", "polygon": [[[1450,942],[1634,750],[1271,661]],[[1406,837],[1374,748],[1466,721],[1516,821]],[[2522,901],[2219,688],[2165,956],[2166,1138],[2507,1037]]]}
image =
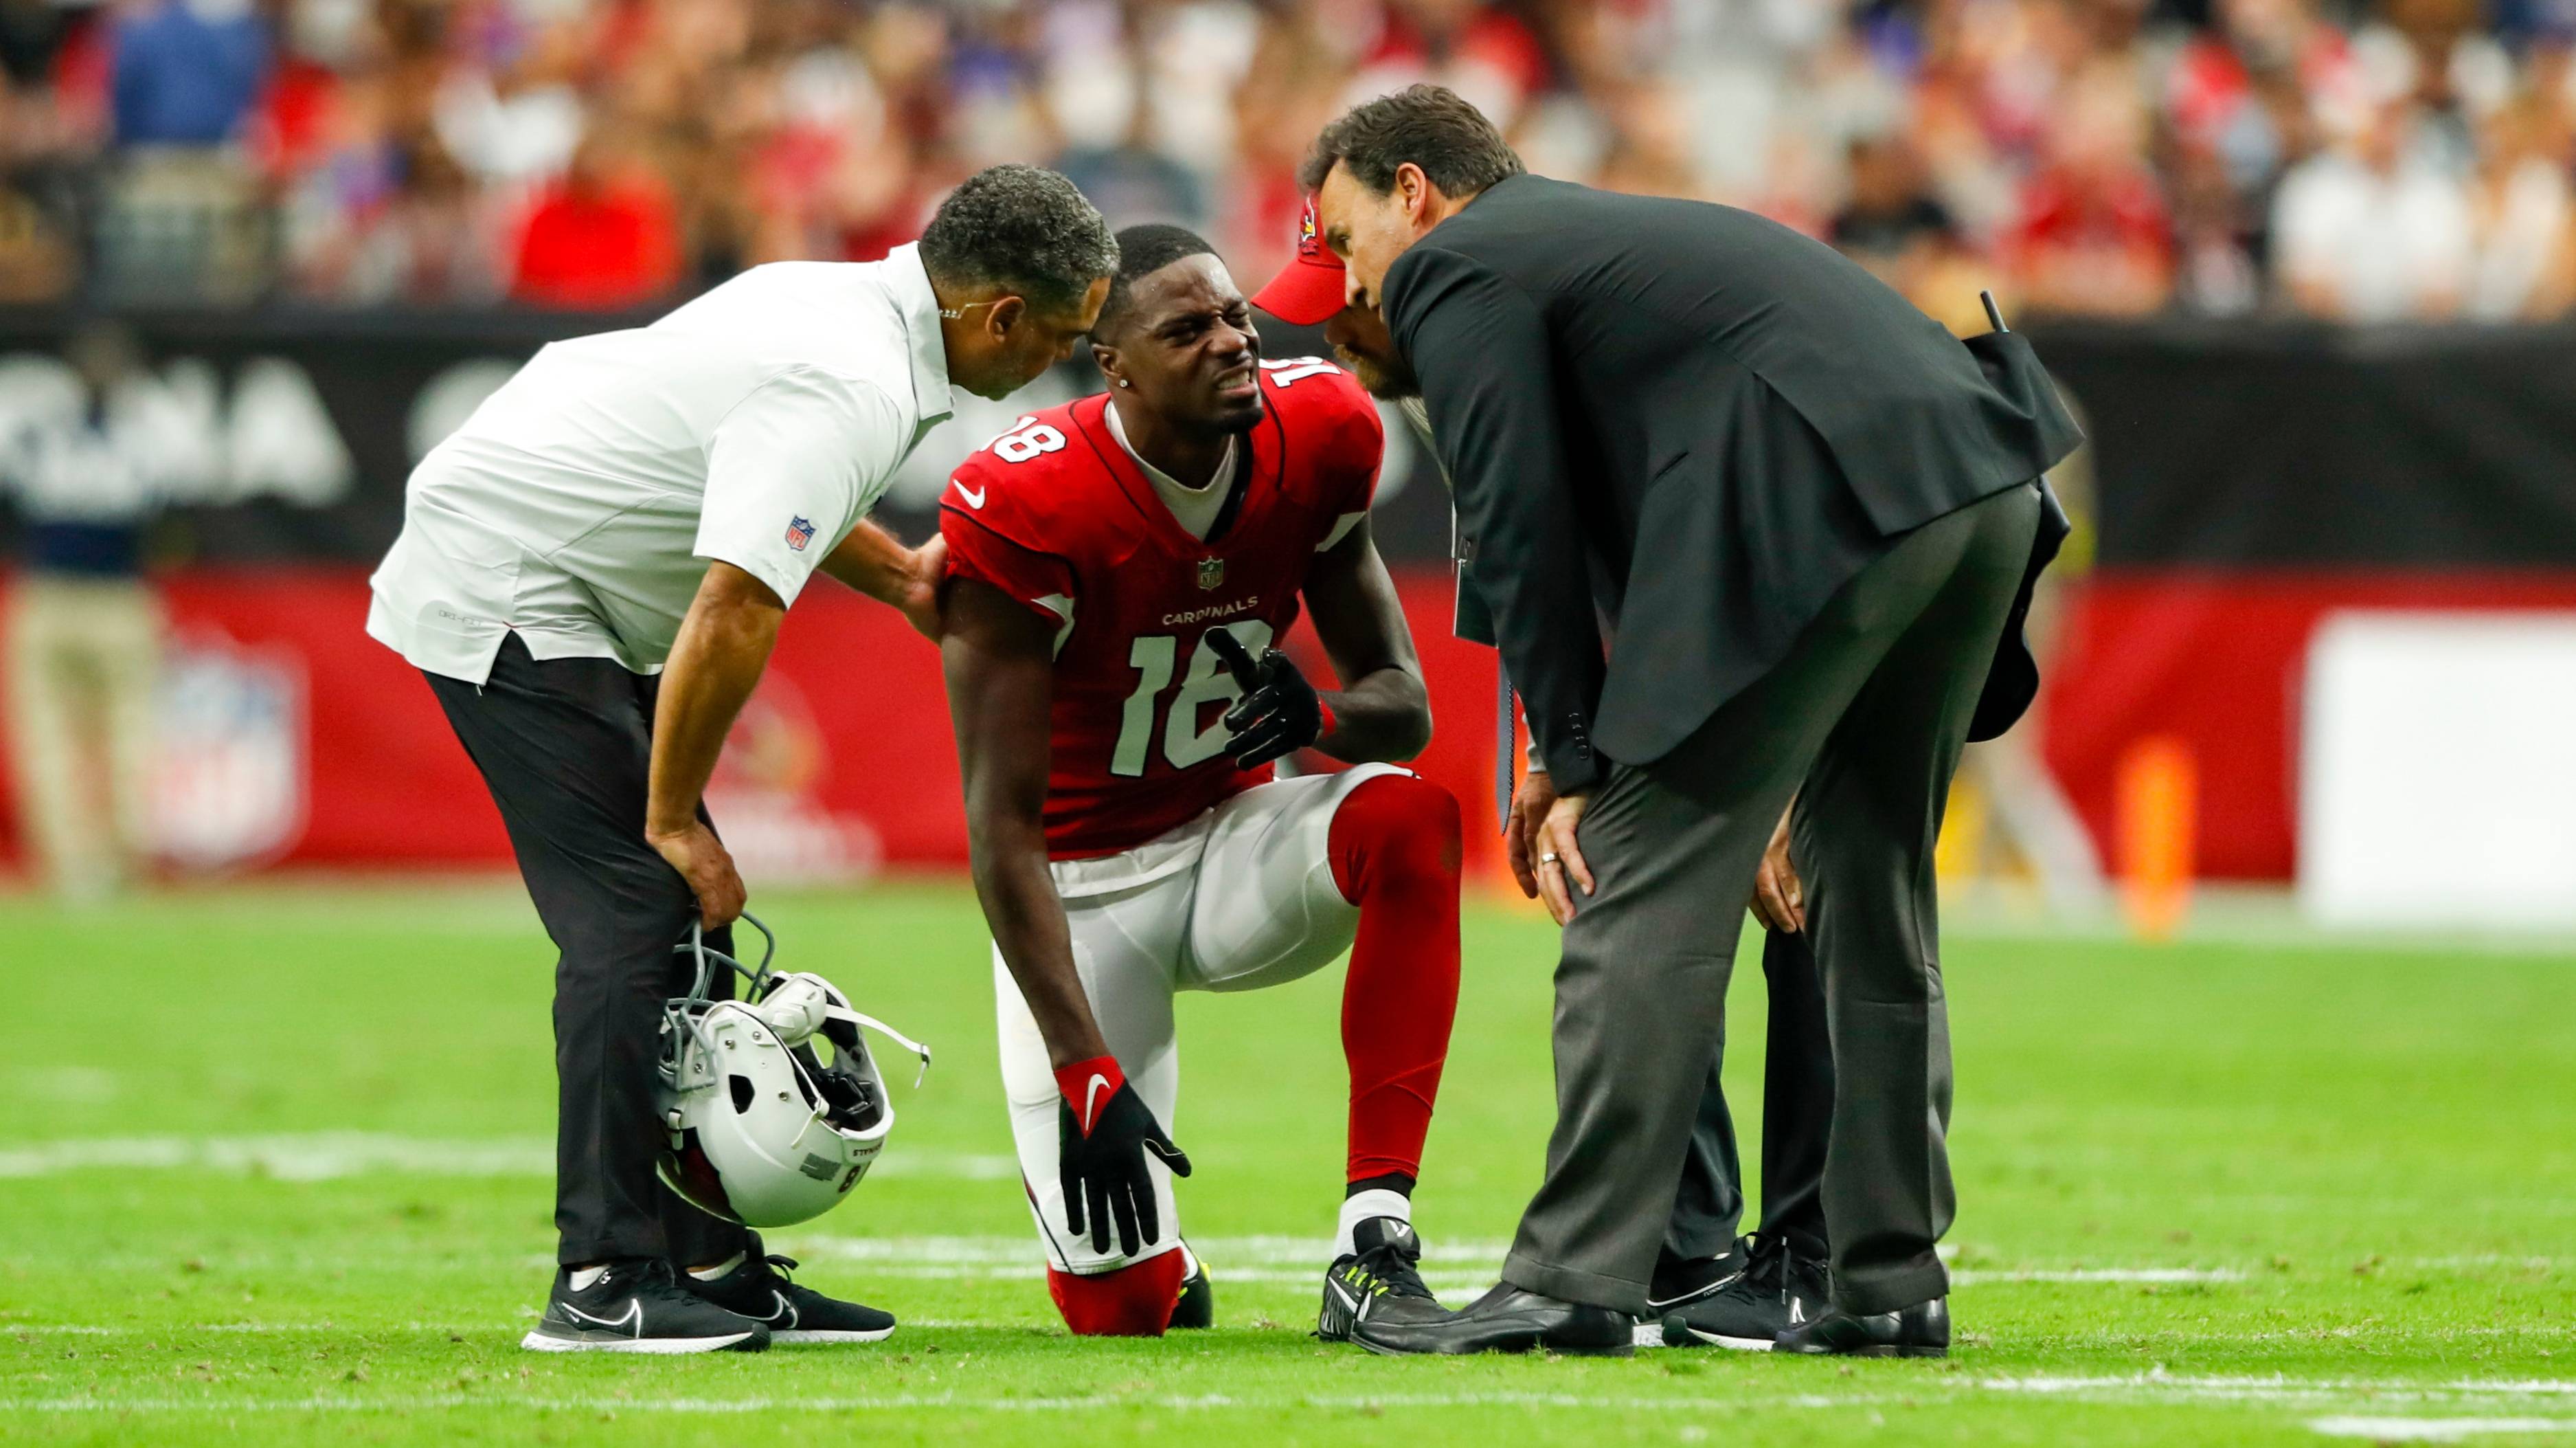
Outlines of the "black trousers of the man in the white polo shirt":
{"label": "black trousers of the man in the white polo shirt", "polygon": [[[510,634],[484,685],[425,675],[510,827],[554,964],[556,1260],[721,1262],[752,1237],[654,1172],[662,1002],[688,989],[698,902],[644,843],[654,678],[533,660]],[[732,953],[732,933],[708,946]],[[719,982],[719,992],[729,992]]]}

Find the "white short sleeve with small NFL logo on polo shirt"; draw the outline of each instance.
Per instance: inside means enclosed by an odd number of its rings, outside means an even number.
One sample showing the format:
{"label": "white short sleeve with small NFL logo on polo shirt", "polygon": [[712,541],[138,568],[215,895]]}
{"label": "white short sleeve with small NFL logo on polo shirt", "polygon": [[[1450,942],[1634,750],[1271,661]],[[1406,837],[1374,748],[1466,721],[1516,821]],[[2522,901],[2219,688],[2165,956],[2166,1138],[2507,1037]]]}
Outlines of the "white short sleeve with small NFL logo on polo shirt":
{"label": "white short sleeve with small NFL logo on polo shirt", "polygon": [[696,554],[796,603],[814,564],[876,508],[909,441],[912,423],[873,384],[819,368],[773,376],[706,448]]}

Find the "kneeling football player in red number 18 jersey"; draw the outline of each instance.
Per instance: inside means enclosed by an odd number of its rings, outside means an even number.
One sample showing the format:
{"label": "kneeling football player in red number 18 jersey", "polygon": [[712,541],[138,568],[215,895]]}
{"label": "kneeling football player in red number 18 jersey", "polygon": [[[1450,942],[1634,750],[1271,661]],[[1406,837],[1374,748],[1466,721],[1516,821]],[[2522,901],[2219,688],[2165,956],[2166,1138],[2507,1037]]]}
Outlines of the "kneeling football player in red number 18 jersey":
{"label": "kneeling football player in red number 18 jersey", "polygon": [[[1048,1291],[1084,1335],[1208,1322],[1164,1126],[1172,995],[1350,951],[1350,1188],[1316,1329],[1435,1317],[1409,1193],[1458,1007],[1458,801],[1368,531],[1383,433],[1337,366],[1262,361],[1180,227],[1118,234],[1092,330],[1108,392],[1023,417],[940,502],[945,670],[1002,1082]],[[1345,680],[1273,642],[1314,613]],[[1316,747],[1355,768],[1273,778]]]}

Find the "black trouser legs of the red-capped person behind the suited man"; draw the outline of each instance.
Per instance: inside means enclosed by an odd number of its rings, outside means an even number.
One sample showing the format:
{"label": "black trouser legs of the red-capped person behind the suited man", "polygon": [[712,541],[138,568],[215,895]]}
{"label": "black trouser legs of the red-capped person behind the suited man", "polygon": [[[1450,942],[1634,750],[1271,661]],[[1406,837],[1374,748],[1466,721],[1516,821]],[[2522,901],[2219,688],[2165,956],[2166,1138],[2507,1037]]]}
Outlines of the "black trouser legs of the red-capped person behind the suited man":
{"label": "black trouser legs of the red-capped person behind the suited man", "polygon": [[[1788,1237],[1798,1255],[1824,1257],[1824,1144],[1834,1134],[1834,1041],[1824,1018],[1824,979],[1808,935],[1762,933],[1767,1043],[1762,1054],[1762,1232]],[[1723,1059],[1723,1051],[1721,1051]],[[1718,1072],[1708,1072],[1700,1118],[1672,1198],[1656,1275],[1718,1257],[1744,1221],[1744,1165]]]}

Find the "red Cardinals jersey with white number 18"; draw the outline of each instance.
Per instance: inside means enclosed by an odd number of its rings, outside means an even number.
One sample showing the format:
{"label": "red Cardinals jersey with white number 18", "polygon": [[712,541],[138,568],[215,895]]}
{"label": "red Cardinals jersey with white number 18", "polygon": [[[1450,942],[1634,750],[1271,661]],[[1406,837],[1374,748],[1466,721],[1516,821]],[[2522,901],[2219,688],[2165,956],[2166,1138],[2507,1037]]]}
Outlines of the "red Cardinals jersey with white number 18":
{"label": "red Cardinals jersey with white number 18", "polygon": [[[1316,551],[1368,515],[1386,433],[1321,358],[1265,361],[1231,520],[1193,538],[1108,425],[1108,397],[1020,417],[940,497],[948,569],[1056,626],[1048,855],[1115,855],[1270,778],[1226,760],[1226,626],[1260,657],[1288,634]],[[1242,451],[1236,453],[1242,459]]]}

